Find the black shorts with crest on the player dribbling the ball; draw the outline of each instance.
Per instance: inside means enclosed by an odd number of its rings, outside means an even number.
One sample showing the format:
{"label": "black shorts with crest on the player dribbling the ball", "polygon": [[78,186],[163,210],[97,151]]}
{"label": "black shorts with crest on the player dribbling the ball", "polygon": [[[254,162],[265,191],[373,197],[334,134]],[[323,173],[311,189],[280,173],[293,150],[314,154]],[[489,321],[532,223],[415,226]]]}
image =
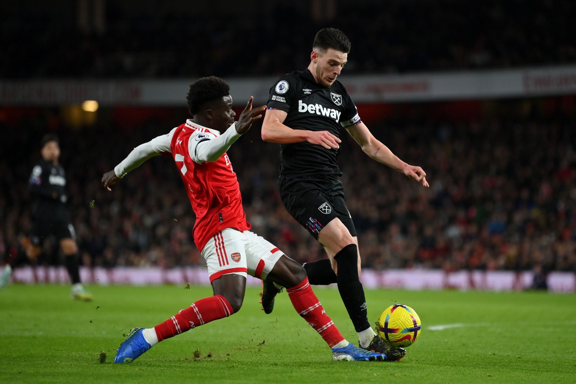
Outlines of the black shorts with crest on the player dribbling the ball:
{"label": "black shorts with crest on the player dribbling the ball", "polygon": [[282,204],[288,213],[318,239],[320,231],[339,218],[352,236],[356,229],[344,201],[344,187],[338,176],[298,176],[278,180]]}

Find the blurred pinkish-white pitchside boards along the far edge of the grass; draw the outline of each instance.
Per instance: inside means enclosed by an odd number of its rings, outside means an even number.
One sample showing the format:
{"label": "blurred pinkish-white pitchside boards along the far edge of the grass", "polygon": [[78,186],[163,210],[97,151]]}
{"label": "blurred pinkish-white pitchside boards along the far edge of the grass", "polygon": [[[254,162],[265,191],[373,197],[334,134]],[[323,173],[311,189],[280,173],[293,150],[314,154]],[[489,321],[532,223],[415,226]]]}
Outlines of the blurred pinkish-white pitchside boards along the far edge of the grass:
{"label": "blurred pinkish-white pitchside boards along the far edge of the grass", "polygon": [[[93,284],[198,284],[209,285],[206,268],[178,267],[170,269],[116,267],[81,268],[81,278]],[[511,291],[532,286],[534,276],[530,271],[458,271],[445,272],[441,269],[386,269],[374,271],[362,269],[362,284],[366,288],[403,288],[408,290],[458,290]],[[63,267],[16,268],[14,282],[20,283],[69,283],[68,273]],[[547,279],[552,292],[576,292],[576,273],[551,272]],[[260,280],[248,276],[247,284],[259,285]]]}

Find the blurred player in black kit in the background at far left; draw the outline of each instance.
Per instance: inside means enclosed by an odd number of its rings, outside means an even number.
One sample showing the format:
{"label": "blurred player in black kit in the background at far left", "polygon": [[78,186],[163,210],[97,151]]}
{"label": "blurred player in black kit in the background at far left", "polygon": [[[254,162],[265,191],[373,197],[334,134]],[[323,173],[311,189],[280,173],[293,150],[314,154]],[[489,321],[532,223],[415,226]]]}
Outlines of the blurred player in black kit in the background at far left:
{"label": "blurred player in black kit in the background at far left", "polygon": [[[41,142],[42,159],[32,169],[29,180],[30,194],[35,197],[33,226],[26,255],[35,260],[42,251],[45,237],[53,235],[65,255],[66,269],[72,282],[71,295],[75,299],[90,301],[92,296],[80,283],[78,270],[78,245],[75,241],[74,227],[68,220],[66,211],[66,175],[62,165],[58,164],[60,146],[55,135],[46,135]],[[10,277],[12,268],[7,264],[2,269],[2,286]]]}

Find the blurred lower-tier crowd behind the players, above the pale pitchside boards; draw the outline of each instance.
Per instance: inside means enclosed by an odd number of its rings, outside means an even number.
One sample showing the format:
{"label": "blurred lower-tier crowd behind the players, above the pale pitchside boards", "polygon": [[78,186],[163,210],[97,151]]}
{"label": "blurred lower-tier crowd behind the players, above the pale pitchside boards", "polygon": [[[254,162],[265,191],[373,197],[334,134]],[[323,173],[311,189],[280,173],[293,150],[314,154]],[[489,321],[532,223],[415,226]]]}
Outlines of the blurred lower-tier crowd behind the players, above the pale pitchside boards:
{"label": "blurred lower-tier crowd behind the players, above the pale pitchside boards", "polygon": [[[184,116],[185,117],[185,116]],[[31,227],[26,192],[53,117],[24,117],[0,143],[0,255]],[[60,128],[69,211],[85,265],[204,265],[194,214],[171,158],[150,159],[112,192],[101,175],[172,125]],[[365,267],[576,272],[576,121],[388,123],[374,135],[428,174],[430,188],[367,157],[343,131],[340,166]],[[0,124],[1,125],[1,124]],[[16,134],[17,133],[17,134]],[[253,127],[228,151],[253,230],[300,262],[320,245],[279,199],[278,146]],[[46,244],[51,253],[51,243]]]}

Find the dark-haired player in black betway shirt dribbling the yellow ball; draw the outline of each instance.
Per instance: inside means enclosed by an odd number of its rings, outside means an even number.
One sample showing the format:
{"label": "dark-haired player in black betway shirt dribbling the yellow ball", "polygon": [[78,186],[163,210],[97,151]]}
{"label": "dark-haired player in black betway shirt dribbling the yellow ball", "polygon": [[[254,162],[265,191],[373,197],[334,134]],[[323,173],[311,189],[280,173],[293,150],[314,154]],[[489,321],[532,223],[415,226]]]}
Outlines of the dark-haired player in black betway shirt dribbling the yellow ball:
{"label": "dark-haired player in black betway shirt dribbling the yellow ball", "polygon": [[[401,161],[362,123],[354,102],[336,80],[348,52],[350,40],[338,29],[325,28],[316,34],[308,69],[283,75],[270,89],[262,139],[281,144],[278,184],[282,203],[329,257],[304,264],[310,284],[337,283],[361,347],[398,360],[406,351],[376,337],[367,320],[359,280],[358,238],[339,179],[340,128],[346,128],[374,160],[424,187],[429,185],[422,168]],[[266,313],[272,310],[276,292],[272,283],[264,284],[262,304]]]}

